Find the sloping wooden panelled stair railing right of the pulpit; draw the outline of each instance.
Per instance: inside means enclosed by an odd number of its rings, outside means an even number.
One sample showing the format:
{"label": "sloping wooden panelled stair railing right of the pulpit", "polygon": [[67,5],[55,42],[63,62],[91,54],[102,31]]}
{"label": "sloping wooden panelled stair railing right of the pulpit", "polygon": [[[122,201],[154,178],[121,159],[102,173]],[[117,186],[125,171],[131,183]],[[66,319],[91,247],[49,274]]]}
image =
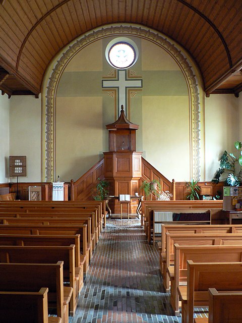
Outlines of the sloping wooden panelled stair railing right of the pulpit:
{"label": "sloping wooden panelled stair railing right of the pulpit", "polygon": [[142,162],[142,177],[140,179],[140,185],[143,181],[157,180],[160,183],[162,191],[169,191],[173,195],[173,200],[175,200],[175,180],[170,182],[166,177],[164,177],[157,169],[155,169],[145,158],[141,158]]}

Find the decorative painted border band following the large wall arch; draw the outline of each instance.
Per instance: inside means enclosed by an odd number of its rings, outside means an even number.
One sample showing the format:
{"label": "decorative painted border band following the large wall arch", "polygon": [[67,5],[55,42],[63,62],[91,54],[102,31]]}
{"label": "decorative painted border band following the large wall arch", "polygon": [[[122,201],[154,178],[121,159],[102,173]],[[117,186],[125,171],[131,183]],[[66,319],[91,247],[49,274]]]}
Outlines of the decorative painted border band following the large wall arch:
{"label": "decorative painted border band following the large wall arch", "polygon": [[[115,24],[96,28],[78,37],[60,52],[46,70],[42,90],[42,160],[43,182],[55,180],[55,99],[58,82],[70,60],[84,47],[109,36],[136,36],[162,47],[175,60],[183,72],[189,93],[190,115],[190,178],[201,180],[201,165],[204,164],[203,109],[199,93],[198,76],[188,53],[173,40],[145,26]],[[191,62],[191,63],[190,63]]]}

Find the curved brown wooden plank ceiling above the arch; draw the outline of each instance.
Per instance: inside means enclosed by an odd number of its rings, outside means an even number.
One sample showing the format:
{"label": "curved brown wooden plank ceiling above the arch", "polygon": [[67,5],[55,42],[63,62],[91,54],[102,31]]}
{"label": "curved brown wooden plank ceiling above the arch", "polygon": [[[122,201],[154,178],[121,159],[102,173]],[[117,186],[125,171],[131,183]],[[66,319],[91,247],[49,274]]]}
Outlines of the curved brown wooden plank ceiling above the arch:
{"label": "curved brown wooden plank ceiling above the arch", "polygon": [[2,93],[37,96],[61,48],[117,22],[148,26],[186,48],[207,95],[241,91],[241,0],[0,0]]}

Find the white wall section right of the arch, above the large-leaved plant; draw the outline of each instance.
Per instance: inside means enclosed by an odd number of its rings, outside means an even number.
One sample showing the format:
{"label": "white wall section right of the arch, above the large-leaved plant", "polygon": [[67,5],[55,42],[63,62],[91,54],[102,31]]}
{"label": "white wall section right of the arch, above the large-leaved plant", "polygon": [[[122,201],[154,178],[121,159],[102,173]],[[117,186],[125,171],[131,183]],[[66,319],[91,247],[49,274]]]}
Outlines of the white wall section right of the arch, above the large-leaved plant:
{"label": "white wall section right of the arch, above the large-leaved plant", "polygon": [[[240,99],[240,110],[241,110]],[[205,98],[205,181],[211,181],[224,150],[235,153],[235,141],[242,141],[239,130],[239,100],[233,94],[211,94]]]}

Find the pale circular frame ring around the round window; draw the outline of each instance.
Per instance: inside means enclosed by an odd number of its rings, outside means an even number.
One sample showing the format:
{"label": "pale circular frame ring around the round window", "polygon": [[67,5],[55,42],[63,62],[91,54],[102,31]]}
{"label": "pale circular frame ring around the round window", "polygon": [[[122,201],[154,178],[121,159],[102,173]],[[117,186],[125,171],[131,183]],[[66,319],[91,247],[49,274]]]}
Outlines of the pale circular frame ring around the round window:
{"label": "pale circular frame ring around the round window", "polygon": [[[109,58],[109,53],[110,53],[110,50],[117,44],[119,43],[124,43],[124,44],[127,44],[129,45],[132,50],[134,51],[134,60],[131,64],[129,64],[129,66],[126,66],[126,67],[118,67],[118,66],[115,66],[111,61],[110,61],[110,58]],[[136,45],[136,43],[130,39],[130,38],[127,38],[127,37],[117,37],[117,38],[114,38],[112,39],[106,46],[106,50],[105,50],[105,57],[106,57],[106,60],[108,62],[109,65],[111,65],[113,68],[117,69],[117,70],[127,70],[129,69],[130,67],[132,67],[133,65],[135,65],[135,63],[137,62],[138,60],[138,57],[139,57],[139,50],[138,50],[138,47]]]}

